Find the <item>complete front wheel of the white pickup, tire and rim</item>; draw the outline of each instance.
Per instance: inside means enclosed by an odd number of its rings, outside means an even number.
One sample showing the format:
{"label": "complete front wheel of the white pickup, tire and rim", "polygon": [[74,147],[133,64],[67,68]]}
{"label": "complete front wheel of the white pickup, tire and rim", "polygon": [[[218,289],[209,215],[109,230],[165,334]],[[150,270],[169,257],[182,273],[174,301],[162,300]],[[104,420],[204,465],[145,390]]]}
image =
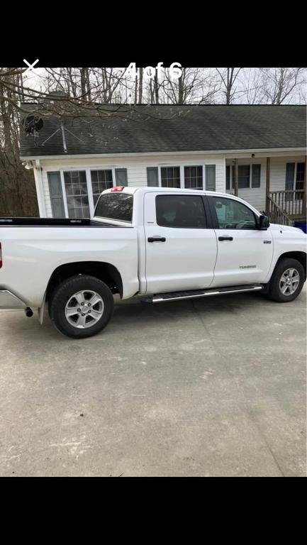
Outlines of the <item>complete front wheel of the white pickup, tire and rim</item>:
{"label": "complete front wheel of the white pickup, tire and rim", "polygon": [[301,293],[305,280],[303,265],[292,258],[284,258],[277,264],[267,292],[278,303],[293,301]]}

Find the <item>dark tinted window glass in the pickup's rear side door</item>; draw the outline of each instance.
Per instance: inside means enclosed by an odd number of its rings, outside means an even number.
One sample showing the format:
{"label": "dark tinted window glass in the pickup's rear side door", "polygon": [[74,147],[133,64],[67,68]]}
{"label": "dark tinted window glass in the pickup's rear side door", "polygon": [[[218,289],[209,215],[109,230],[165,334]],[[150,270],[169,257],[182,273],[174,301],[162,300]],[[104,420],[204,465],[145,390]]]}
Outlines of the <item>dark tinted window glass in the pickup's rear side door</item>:
{"label": "dark tinted window glass in the pickup's rear side door", "polygon": [[160,226],[206,229],[203,199],[198,195],[157,195],[156,212]]}

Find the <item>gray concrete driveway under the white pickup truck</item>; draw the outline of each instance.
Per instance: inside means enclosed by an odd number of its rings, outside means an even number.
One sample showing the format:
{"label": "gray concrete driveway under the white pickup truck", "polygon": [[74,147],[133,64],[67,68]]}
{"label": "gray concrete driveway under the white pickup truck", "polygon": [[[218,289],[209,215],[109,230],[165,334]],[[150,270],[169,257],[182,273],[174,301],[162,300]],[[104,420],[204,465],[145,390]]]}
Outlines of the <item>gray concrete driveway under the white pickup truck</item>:
{"label": "gray concrete driveway under the white pickup truck", "polygon": [[73,341],[0,312],[0,475],[306,475],[306,288],[116,305]]}

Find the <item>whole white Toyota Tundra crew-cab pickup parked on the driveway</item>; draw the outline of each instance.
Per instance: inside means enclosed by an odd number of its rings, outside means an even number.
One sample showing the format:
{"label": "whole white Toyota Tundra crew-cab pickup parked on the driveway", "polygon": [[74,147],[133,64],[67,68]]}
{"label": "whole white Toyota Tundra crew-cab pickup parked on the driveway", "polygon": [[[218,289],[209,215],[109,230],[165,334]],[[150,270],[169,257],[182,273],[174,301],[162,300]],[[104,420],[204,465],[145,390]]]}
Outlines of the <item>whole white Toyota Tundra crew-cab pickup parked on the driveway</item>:
{"label": "whole white Toyota Tundra crew-cab pickup parked on the driveway", "polygon": [[0,219],[0,309],[38,309],[42,323],[48,302],[55,327],[83,338],[108,324],[116,293],[289,302],[306,280],[306,240],[229,194],[113,187],[94,219]]}

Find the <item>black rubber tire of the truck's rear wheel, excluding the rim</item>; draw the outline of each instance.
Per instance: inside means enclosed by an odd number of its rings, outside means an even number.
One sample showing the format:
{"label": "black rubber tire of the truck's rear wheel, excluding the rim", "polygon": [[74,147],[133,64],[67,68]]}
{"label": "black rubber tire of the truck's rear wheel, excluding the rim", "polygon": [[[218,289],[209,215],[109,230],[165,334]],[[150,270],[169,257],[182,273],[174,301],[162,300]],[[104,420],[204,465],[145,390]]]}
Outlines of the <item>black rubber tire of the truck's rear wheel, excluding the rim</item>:
{"label": "black rubber tire of the truck's rear wheel, excluding the rim", "polygon": [[[72,299],[74,294],[77,294],[77,292],[95,292],[101,297],[102,301],[100,311],[101,317],[99,317],[98,321],[93,323],[93,325],[86,325],[84,329],[79,329],[77,325],[74,326],[70,324],[65,314],[67,303]],[[86,306],[87,305],[82,308],[86,308]],[[77,304],[76,307],[79,307],[79,304]],[[106,327],[113,314],[113,308],[113,295],[109,287],[102,282],[102,280],[90,275],[77,275],[69,277],[67,280],[63,280],[63,282],[61,282],[61,284],[52,292],[49,303],[49,314],[56,329],[62,334],[72,338],[86,338],[96,335],[101,329]],[[93,311],[89,312],[94,312],[94,307]],[[82,314],[82,316],[84,316],[84,314]],[[77,316],[78,320],[79,317]],[[88,320],[88,323],[91,323],[92,319],[92,316],[86,316],[85,318],[85,320]]]}

